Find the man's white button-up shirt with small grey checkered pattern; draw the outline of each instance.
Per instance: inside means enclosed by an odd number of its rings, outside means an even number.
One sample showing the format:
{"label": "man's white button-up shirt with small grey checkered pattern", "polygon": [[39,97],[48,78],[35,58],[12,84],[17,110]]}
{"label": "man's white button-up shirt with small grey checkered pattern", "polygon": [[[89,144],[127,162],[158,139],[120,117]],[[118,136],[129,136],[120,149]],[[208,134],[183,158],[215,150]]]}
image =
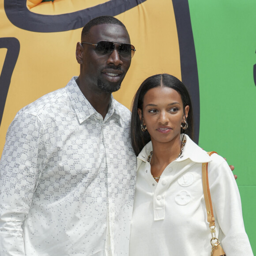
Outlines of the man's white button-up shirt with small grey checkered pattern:
{"label": "man's white button-up shirt with small grey checkered pattern", "polygon": [[0,255],[128,255],[136,180],[130,111],[102,116],[73,77],[21,109],[0,161]]}

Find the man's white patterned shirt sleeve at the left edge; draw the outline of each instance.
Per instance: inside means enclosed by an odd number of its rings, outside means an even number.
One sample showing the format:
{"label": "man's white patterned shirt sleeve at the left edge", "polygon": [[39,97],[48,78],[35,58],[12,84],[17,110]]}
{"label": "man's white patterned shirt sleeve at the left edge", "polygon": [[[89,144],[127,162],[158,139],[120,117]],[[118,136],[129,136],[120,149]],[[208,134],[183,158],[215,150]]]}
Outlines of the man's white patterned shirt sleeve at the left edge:
{"label": "man's white patterned shirt sleeve at the left edge", "polygon": [[18,113],[8,128],[0,160],[0,255],[25,255],[23,225],[45,154],[41,122]]}

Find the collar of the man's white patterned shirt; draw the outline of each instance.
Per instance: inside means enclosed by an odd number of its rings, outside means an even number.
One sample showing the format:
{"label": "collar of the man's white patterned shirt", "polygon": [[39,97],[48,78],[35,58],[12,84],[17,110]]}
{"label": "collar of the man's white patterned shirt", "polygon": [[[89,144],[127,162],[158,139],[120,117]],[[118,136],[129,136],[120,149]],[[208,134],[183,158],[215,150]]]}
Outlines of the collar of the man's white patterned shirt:
{"label": "collar of the man's white patterned shirt", "polygon": [[[79,123],[81,124],[92,115],[97,115],[98,112],[94,109],[94,107],[90,104],[90,102],[87,100],[87,98],[85,98],[85,96],[79,89],[77,83],[75,82],[77,78],[78,76],[72,77],[72,79],[68,82],[65,89],[74,107]],[[118,116],[119,122],[121,122],[121,120],[124,120],[124,117],[120,115],[120,112],[117,109],[116,101],[114,100],[113,95],[111,94],[110,106],[108,113],[105,117],[105,120],[107,120],[113,114],[116,114]]]}

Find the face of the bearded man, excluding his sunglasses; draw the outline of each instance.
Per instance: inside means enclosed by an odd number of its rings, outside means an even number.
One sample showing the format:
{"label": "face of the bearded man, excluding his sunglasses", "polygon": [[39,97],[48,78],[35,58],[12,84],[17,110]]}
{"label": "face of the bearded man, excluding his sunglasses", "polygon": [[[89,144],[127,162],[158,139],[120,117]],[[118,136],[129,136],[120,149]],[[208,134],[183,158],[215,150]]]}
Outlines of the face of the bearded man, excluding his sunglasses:
{"label": "face of the bearded man, excluding his sunglasses", "polygon": [[[123,26],[114,24],[101,24],[93,26],[83,42],[96,44],[99,41],[113,41],[130,43],[130,37]],[[81,75],[86,79],[91,89],[112,93],[120,89],[121,83],[128,71],[131,60],[120,58],[117,47],[112,53],[100,55],[95,51],[94,45],[83,44],[83,60]]]}

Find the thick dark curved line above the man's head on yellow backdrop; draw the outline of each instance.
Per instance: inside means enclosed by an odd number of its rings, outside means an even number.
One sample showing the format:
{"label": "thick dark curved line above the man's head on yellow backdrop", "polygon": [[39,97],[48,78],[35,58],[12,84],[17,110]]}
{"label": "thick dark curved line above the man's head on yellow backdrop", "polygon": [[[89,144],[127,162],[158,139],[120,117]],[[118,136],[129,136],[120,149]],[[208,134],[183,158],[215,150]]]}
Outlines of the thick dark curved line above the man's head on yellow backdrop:
{"label": "thick dark curved line above the man's head on yellow backdrop", "polygon": [[75,30],[101,15],[116,16],[146,0],[111,0],[94,7],[60,15],[42,15],[29,11],[26,0],[4,0],[4,10],[10,22],[21,29],[50,33]]}

